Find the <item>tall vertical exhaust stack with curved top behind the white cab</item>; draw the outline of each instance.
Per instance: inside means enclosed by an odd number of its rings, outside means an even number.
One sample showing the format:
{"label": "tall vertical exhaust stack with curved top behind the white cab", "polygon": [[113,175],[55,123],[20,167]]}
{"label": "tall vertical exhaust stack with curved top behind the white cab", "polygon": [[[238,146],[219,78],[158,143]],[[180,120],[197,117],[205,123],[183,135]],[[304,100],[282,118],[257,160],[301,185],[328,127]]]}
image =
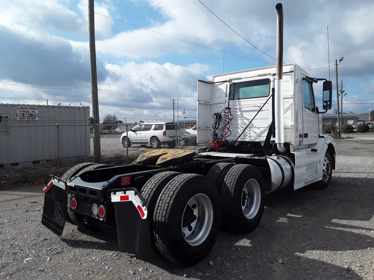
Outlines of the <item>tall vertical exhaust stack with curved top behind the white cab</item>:
{"label": "tall vertical exhaust stack with curved top behind the white cab", "polygon": [[284,100],[283,100],[283,7],[276,4],[277,10],[277,59],[275,76],[275,143],[279,152],[286,151],[284,146]]}

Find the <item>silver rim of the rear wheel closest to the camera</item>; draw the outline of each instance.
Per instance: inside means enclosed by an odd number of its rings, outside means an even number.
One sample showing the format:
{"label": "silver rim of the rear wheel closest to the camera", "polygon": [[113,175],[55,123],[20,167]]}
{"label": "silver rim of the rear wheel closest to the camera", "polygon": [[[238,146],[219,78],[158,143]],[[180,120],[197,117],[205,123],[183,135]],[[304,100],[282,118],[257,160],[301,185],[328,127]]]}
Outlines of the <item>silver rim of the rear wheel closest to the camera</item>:
{"label": "silver rim of the rear wheel closest to the camera", "polygon": [[182,222],[184,240],[191,246],[203,243],[213,223],[213,206],[209,197],[202,193],[193,196],[184,208],[182,221],[185,220],[189,221],[188,225]]}

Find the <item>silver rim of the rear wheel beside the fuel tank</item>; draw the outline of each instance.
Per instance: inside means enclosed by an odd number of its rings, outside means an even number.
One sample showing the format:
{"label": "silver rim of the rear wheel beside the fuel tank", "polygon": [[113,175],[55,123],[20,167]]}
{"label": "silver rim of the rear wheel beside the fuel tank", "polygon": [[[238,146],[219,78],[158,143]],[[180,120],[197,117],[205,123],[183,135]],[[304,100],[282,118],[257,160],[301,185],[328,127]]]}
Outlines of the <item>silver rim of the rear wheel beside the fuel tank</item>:
{"label": "silver rim of the rear wheel beside the fuel tank", "polygon": [[248,180],[242,192],[242,211],[247,219],[253,219],[260,209],[261,188],[257,180]]}

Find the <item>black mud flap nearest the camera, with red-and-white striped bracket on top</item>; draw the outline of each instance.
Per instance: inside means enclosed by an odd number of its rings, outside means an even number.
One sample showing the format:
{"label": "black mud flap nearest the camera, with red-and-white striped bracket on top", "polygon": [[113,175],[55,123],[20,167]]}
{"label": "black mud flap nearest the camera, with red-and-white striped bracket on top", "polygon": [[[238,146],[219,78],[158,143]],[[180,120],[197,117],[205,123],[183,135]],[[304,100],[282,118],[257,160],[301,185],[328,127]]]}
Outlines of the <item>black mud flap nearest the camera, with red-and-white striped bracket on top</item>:
{"label": "black mud flap nearest the camera, with red-and-white striped bracket on top", "polygon": [[[131,192],[131,190],[134,190],[134,192]],[[117,194],[119,194],[119,190],[116,191]],[[136,189],[131,188],[130,192],[130,196],[136,194],[138,198],[140,197]],[[129,192],[124,190],[124,192],[120,193],[121,196],[128,196]],[[113,199],[112,202],[114,202]],[[114,202],[118,245],[121,251],[148,253],[151,251],[151,235],[149,228],[149,219],[151,217],[146,216],[142,218],[144,212],[138,208],[144,206],[145,203],[141,202],[139,199],[138,202],[140,202],[138,207],[135,206],[132,201],[120,200]]]}

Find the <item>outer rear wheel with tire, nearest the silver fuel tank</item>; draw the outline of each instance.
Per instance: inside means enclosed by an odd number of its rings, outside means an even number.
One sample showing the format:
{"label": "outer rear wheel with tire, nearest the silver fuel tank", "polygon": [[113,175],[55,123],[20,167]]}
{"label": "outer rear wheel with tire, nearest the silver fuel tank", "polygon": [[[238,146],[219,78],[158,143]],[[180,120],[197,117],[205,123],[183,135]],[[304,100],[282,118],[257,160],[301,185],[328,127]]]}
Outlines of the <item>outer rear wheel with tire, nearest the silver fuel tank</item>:
{"label": "outer rear wheel with tire, nearest the silver fuel tank", "polygon": [[227,172],[221,189],[223,222],[230,231],[248,233],[264,212],[265,184],[261,171],[236,164]]}

